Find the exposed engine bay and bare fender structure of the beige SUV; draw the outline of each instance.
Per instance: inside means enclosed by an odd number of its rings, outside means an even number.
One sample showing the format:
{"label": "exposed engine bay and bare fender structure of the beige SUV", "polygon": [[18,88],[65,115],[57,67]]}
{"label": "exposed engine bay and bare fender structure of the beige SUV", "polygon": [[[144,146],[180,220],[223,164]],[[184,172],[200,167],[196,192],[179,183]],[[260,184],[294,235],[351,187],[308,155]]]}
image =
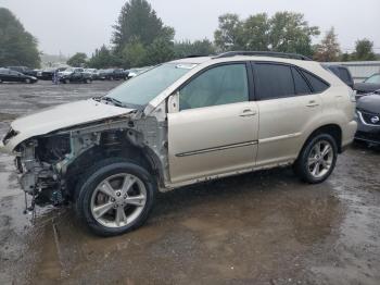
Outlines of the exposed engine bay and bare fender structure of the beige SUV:
{"label": "exposed engine bay and bare fender structure of the beige SUV", "polygon": [[[132,119],[134,117],[134,119]],[[97,161],[112,157],[132,159],[168,177],[167,127],[155,116],[118,117],[61,129],[23,141],[15,149],[15,164],[25,195],[26,211],[35,206],[61,206],[75,197],[75,185]],[[11,134],[12,135],[12,134]]]}

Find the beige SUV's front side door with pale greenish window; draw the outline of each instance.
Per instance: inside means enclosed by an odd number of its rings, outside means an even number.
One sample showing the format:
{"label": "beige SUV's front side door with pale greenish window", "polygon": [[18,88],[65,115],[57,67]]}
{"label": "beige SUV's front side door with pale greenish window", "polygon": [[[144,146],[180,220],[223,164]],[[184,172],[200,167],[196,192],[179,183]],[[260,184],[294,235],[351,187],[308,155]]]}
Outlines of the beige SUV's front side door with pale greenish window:
{"label": "beige SUV's front side door with pale greenish window", "polygon": [[179,110],[167,115],[172,183],[255,164],[258,111],[250,101],[245,63],[201,72],[176,96]]}

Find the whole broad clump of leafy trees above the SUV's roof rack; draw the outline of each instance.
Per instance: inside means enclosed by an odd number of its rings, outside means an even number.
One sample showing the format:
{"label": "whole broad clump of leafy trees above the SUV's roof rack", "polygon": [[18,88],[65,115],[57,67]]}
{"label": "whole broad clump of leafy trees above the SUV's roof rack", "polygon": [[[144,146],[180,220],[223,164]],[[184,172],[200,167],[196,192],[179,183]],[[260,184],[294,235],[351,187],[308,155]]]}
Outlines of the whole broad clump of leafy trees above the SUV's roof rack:
{"label": "whole broad clump of leafy trees above the SUV's roof rack", "polygon": [[270,18],[261,13],[243,21],[237,14],[221,15],[214,38],[220,51],[273,50],[312,55],[312,37],[317,35],[318,27],[309,26],[303,14],[278,12]]}

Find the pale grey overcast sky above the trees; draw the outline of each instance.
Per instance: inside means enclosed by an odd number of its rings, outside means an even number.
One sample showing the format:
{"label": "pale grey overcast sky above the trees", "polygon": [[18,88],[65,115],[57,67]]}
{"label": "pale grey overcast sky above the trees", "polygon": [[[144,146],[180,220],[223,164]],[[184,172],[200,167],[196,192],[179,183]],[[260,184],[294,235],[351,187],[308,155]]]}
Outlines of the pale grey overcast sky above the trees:
{"label": "pale grey overcast sky above the trees", "polygon": [[[25,28],[39,40],[45,53],[88,54],[110,44],[112,25],[126,0],[0,0]],[[380,0],[150,0],[166,25],[176,29],[176,39],[213,39],[218,16],[277,11],[305,15],[322,34],[335,27],[343,50],[352,49],[358,38],[369,38],[380,52]]]}

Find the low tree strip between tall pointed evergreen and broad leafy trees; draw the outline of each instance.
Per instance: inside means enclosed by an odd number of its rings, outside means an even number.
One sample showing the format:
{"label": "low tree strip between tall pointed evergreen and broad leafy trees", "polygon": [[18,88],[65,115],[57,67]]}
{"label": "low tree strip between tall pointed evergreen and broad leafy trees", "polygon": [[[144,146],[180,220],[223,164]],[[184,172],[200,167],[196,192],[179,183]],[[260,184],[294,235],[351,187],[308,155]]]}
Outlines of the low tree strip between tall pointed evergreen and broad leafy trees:
{"label": "low tree strip between tall pointed evergreen and broad leafy trees", "polygon": [[174,53],[177,59],[189,55],[210,55],[215,53],[215,48],[208,39],[195,40],[194,42],[186,40],[174,44]]}

